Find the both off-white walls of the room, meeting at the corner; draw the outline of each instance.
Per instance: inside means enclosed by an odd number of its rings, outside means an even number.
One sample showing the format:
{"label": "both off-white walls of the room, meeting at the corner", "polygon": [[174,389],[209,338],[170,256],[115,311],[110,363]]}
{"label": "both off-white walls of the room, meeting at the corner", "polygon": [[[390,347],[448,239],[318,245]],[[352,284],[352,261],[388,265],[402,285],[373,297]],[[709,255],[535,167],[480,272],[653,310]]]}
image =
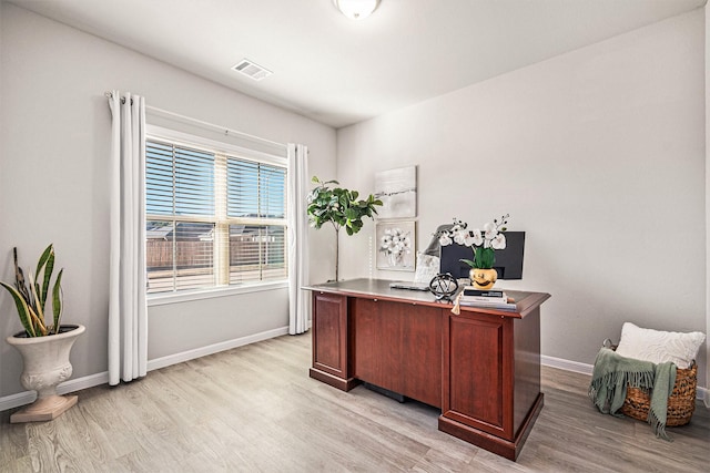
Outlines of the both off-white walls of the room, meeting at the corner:
{"label": "both off-white walls of the room, meeting at the corner", "polygon": [[[337,153],[337,177],[362,192],[377,171],[418,165],[419,248],[454,216],[483,225],[509,212],[528,244],[525,279],[506,286],[552,295],[542,309],[546,356],[591,363],[623,320],[707,332],[704,30],[700,10],[670,19],[343,128],[336,147],[327,126],[0,2],[0,278],[12,277],[12,246],[29,264],[53,241],[67,273],[65,321],[89,330],[72,351],[74,377],[105,370],[103,92],[120,89],[305,143],[311,174],[323,178],[335,177]],[[342,236],[342,277],[371,274],[373,233],[368,223]],[[311,237],[312,281],[332,278],[332,233]],[[152,307],[150,358],[283,327],[285,291],[271,296]],[[20,329],[13,313],[0,296],[0,338]],[[20,370],[19,354],[0,343],[0,397],[22,391]]]}

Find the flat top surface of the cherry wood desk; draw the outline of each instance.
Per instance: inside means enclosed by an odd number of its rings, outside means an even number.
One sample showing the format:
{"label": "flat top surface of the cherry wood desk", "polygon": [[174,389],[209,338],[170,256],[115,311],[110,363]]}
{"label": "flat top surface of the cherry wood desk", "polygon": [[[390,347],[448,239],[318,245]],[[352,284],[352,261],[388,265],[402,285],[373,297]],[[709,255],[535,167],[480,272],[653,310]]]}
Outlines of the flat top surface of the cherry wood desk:
{"label": "flat top surface of the cherry wood desk", "polygon": [[[306,286],[303,289],[336,294],[342,296],[352,297],[365,297],[377,298],[382,300],[393,300],[407,304],[419,304],[424,306],[440,307],[443,309],[452,309],[454,305],[449,301],[437,300],[436,297],[429,291],[409,290],[409,289],[394,289],[389,287],[390,280],[385,279],[351,279],[342,280],[337,282],[324,282],[312,286]],[[462,311],[475,311],[496,313],[505,317],[523,318],[530,310],[537,308],[545,300],[549,299],[550,295],[546,292],[527,292],[519,290],[506,290],[508,297],[511,297],[516,301],[516,310],[497,310],[484,307],[468,307],[462,306]]]}

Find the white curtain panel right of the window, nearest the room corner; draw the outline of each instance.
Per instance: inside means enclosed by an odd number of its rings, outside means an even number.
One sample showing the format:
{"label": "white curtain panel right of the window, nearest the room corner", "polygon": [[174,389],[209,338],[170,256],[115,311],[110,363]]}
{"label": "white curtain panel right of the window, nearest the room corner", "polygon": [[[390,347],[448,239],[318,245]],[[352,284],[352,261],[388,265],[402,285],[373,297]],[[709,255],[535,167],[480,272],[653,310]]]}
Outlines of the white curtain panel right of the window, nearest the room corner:
{"label": "white curtain panel right of the window, nearest the room corner", "polygon": [[290,143],[288,153],[288,333],[308,330],[310,292],[301,289],[308,284],[308,148]]}

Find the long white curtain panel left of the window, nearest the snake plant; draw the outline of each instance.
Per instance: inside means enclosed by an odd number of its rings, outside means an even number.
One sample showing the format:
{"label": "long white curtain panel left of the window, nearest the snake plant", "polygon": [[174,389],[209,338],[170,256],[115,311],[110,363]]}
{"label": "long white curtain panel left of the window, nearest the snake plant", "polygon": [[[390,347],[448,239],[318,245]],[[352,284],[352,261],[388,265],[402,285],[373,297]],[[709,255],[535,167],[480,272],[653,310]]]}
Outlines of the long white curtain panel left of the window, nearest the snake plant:
{"label": "long white curtain panel left of the window, nearest the snake plant", "polygon": [[106,94],[111,127],[109,384],[145,376],[145,101]]}

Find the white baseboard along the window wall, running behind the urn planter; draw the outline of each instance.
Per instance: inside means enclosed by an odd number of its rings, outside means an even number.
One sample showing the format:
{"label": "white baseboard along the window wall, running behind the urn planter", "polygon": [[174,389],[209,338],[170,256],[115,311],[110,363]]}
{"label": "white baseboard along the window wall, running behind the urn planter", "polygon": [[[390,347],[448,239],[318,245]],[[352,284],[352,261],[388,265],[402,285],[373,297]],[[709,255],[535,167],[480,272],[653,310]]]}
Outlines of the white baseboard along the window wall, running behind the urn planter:
{"label": "white baseboard along the window wall, running behind the urn planter", "polygon": [[[232,348],[242,347],[244,345],[254,343],[256,341],[266,340],[270,338],[281,337],[288,333],[288,327],[281,327],[273,330],[267,330],[261,333],[251,335],[247,337],[236,338],[234,340],[227,340],[220,343],[210,345],[194,350],[183,351],[182,353],[175,353],[168,357],[156,358],[155,360],[148,361],[148,371],[158,370],[160,368],[169,367],[171,364],[181,363],[183,361],[194,360],[195,358],[205,357],[207,354],[216,353],[220,351],[230,350]],[[82,389],[93,388],[99,384],[109,383],[109,372],[103,371],[97,374],[90,374],[82,378],[70,379],[57,387],[58,394],[67,394],[69,392],[80,391]],[[10,394],[0,398],[0,412],[8,409],[19,408],[34,402],[37,394],[34,391],[24,391],[17,394]]]}

